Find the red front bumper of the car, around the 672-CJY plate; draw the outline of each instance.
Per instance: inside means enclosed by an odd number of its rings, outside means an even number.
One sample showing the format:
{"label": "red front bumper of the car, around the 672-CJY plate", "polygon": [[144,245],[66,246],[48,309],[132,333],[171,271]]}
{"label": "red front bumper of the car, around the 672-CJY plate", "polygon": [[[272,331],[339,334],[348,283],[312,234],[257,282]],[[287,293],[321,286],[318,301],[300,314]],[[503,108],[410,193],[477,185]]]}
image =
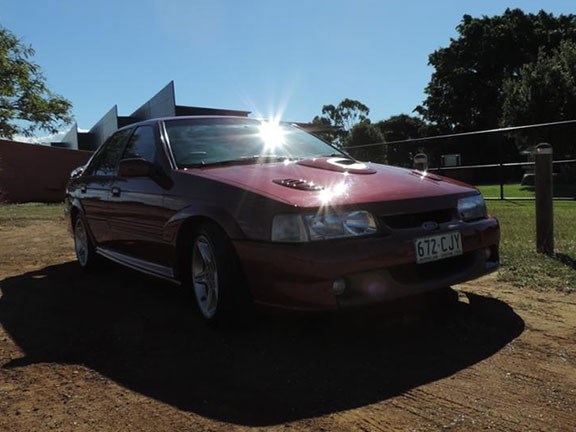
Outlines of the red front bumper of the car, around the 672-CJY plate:
{"label": "red front bumper of the car, around the 672-CJY plate", "polygon": [[[442,226],[434,234],[458,230],[463,255],[416,264],[418,229],[385,236],[299,244],[235,241],[257,305],[293,311],[328,311],[378,305],[462,283],[498,268],[500,229],[488,218]],[[344,292],[333,283],[343,279]]]}

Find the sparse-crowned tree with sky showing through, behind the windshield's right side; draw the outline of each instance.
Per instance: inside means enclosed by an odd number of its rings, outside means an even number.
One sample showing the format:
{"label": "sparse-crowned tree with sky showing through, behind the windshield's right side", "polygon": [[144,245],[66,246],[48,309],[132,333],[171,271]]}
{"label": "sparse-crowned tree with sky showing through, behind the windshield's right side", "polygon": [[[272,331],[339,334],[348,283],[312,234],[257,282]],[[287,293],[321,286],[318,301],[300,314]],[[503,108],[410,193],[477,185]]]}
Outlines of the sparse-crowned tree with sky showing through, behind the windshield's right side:
{"label": "sparse-crowned tree with sky showing through, behind the windshield's right side", "polygon": [[352,128],[368,119],[370,109],[362,102],[344,99],[337,106],[324,105],[322,116],[314,117],[312,124],[324,128],[319,133],[323,138],[336,145],[344,145]]}

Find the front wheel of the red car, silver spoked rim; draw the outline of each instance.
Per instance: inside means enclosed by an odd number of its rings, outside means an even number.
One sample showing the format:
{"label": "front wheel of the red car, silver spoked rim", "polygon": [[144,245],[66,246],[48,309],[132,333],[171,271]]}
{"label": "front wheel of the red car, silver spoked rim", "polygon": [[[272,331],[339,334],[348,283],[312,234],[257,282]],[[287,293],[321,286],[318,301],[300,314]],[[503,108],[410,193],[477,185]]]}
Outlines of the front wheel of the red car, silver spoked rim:
{"label": "front wheel of the red car, silver spoked rim", "polygon": [[195,231],[189,272],[198,310],[206,322],[226,324],[249,314],[249,296],[238,256],[219,226],[205,223]]}

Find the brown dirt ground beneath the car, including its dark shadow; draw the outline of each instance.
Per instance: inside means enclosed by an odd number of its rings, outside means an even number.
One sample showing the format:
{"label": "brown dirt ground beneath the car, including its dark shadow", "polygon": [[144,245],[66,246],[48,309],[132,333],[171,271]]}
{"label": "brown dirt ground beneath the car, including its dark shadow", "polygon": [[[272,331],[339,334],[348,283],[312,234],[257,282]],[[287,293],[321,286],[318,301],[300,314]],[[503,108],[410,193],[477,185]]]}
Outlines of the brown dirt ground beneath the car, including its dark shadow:
{"label": "brown dirt ground beneath the car, including its dark shadow", "polygon": [[410,319],[216,331],[178,287],[83,274],[63,221],[0,223],[0,430],[576,430],[576,297],[456,289]]}

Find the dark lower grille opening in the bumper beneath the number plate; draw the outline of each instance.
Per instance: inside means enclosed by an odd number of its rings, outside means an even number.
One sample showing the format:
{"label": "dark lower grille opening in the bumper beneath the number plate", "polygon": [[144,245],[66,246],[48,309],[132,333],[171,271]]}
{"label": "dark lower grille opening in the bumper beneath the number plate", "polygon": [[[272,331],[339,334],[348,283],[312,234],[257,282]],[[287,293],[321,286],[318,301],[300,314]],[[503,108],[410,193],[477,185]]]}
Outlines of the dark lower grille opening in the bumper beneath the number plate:
{"label": "dark lower grille opening in the bumper beneath the number plate", "polygon": [[457,257],[446,258],[425,264],[404,264],[390,267],[390,275],[399,283],[413,285],[432,282],[468,270],[474,265],[477,252],[468,252]]}

